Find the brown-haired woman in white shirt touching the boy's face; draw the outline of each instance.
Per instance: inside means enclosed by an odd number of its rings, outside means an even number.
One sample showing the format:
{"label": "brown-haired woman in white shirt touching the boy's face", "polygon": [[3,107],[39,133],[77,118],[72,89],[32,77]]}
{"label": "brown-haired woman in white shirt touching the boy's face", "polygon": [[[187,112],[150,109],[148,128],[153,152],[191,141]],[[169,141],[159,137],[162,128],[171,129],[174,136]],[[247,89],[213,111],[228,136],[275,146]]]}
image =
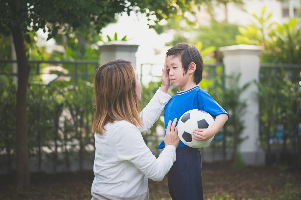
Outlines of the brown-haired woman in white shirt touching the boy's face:
{"label": "brown-haired woman in white shirt touching the boy's face", "polygon": [[141,135],[151,128],[171,98],[166,94],[170,86],[166,64],[162,71],[160,89],[139,114],[141,83],[131,63],[119,59],[98,68],[92,199],[148,199],[148,178],[161,181],[175,161],[180,141],[177,119],[169,122],[164,138],[167,145],[158,159]]}

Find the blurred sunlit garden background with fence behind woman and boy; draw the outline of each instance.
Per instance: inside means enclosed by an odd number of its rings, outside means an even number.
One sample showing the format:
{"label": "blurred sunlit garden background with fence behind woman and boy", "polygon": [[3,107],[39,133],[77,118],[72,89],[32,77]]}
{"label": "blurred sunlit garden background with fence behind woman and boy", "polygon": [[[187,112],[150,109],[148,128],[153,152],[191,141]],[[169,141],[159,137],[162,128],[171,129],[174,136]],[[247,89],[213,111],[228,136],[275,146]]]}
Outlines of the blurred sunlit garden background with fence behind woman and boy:
{"label": "blurred sunlit garden background with fence behind woman and boy", "polygon": [[[131,60],[144,107],[180,42],[230,114],[200,148],[205,199],[301,199],[300,18],[300,0],[1,1],[0,199],[90,199],[96,69]],[[158,156],[164,112],[142,135]],[[149,191],[171,199],[166,177]]]}

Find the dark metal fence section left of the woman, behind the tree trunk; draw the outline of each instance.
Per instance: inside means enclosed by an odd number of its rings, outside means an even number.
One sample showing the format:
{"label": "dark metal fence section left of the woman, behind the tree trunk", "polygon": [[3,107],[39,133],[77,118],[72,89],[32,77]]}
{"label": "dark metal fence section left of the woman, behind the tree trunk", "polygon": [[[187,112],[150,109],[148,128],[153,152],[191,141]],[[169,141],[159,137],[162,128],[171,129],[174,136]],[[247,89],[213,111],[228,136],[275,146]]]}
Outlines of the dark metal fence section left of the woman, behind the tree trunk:
{"label": "dark metal fence section left of the woman, behind the tree trunk", "polygon": [[[0,141],[3,141],[0,142],[0,168],[4,171],[14,168],[8,164],[13,163],[15,152],[15,115],[10,114],[15,113],[11,104],[16,102],[14,65],[16,61],[0,60],[3,86],[0,88]],[[29,65],[27,124],[31,171],[91,168],[93,83],[98,62],[29,61]]]}

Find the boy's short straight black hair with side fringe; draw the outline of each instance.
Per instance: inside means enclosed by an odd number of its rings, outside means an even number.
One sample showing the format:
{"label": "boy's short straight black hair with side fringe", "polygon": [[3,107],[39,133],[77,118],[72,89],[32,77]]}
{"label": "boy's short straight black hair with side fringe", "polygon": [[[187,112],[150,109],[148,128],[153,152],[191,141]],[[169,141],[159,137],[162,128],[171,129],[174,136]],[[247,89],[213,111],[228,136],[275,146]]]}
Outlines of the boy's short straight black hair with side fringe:
{"label": "boy's short straight black hair with side fringe", "polygon": [[200,83],[200,81],[202,80],[204,64],[203,58],[197,47],[187,43],[179,43],[167,50],[166,55],[172,57],[179,56],[182,62],[184,74],[187,74],[189,64],[191,62],[194,62],[196,65],[196,69],[193,74],[194,83]]}

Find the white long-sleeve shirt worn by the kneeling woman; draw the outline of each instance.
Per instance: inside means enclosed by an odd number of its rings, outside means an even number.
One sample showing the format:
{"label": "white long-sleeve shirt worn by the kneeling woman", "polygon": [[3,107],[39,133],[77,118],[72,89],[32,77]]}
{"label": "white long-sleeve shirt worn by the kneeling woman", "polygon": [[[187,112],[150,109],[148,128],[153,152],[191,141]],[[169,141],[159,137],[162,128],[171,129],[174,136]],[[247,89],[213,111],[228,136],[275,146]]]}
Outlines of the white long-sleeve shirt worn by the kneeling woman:
{"label": "white long-sleeve shirt worn by the kneeling woman", "polygon": [[170,95],[158,89],[141,111],[144,126],[115,121],[95,133],[92,199],[148,199],[148,178],[161,181],[176,159],[176,148],[167,145],[158,159],[146,146],[141,132],[159,118]]}

